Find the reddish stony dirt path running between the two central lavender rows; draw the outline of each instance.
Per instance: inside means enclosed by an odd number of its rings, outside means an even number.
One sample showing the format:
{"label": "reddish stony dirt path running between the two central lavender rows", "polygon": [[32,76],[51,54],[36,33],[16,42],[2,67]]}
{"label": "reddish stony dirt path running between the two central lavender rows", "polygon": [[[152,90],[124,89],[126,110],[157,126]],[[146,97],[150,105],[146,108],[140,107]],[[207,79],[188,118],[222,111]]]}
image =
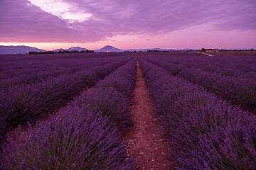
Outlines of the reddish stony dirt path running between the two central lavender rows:
{"label": "reddish stony dirt path running between the two central lavender rows", "polygon": [[137,83],[134,91],[134,105],[131,108],[134,128],[124,137],[129,146],[128,153],[136,159],[135,169],[168,170],[168,145],[161,135],[158,119],[154,117],[149,91],[137,62]]}

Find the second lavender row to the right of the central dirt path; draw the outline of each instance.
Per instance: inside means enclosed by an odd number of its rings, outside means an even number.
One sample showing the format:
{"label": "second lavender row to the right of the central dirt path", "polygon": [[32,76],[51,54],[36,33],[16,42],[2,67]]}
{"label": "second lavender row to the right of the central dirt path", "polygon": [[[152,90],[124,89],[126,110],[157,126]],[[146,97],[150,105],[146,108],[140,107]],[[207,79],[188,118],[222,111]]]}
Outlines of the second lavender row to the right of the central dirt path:
{"label": "second lavender row to the right of the central dirt path", "polygon": [[206,72],[195,67],[175,67],[166,62],[156,62],[160,67],[167,69],[174,76],[182,77],[195,84],[199,84],[209,91],[231,101],[234,105],[240,105],[249,111],[256,109],[256,72],[254,74],[242,74],[237,77],[222,76],[215,72]]}

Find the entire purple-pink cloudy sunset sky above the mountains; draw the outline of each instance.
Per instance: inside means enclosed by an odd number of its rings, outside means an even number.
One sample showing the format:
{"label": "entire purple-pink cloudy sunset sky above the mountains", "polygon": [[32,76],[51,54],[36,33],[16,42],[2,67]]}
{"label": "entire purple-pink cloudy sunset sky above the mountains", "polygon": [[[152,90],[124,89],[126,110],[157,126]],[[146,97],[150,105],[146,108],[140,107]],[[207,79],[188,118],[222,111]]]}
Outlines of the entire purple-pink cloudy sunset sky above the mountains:
{"label": "entire purple-pink cloudy sunset sky above the mountains", "polygon": [[256,49],[255,0],[1,0],[0,45]]}

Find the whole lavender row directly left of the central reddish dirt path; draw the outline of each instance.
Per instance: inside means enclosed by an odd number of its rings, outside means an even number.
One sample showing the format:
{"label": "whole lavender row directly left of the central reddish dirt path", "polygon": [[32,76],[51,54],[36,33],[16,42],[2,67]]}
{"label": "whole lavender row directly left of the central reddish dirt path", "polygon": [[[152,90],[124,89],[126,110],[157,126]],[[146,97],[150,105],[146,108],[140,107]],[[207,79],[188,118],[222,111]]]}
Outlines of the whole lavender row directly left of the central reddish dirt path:
{"label": "whole lavender row directly left of the central reddish dirt path", "polygon": [[[118,129],[132,125],[130,99],[124,94],[132,96],[135,81],[136,61],[132,60],[99,81],[90,93],[84,92],[68,103],[50,120],[39,122],[27,132],[17,130],[2,146],[1,167],[132,169],[133,159],[126,156],[127,148],[120,144]],[[120,89],[122,93],[118,92]]]}

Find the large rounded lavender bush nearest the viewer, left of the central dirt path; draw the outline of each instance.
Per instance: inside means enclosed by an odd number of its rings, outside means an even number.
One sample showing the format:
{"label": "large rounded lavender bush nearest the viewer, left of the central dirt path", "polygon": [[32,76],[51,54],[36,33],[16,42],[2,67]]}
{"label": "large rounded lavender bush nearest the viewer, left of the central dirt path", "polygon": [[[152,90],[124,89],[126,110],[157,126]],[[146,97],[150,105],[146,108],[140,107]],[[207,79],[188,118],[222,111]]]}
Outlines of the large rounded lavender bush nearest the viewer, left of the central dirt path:
{"label": "large rounded lavender bush nearest the viewer, left of the central dirt path", "polygon": [[[71,118],[70,118],[71,117]],[[100,113],[77,108],[53,116],[4,145],[4,169],[131,169],[113,124]]]}

